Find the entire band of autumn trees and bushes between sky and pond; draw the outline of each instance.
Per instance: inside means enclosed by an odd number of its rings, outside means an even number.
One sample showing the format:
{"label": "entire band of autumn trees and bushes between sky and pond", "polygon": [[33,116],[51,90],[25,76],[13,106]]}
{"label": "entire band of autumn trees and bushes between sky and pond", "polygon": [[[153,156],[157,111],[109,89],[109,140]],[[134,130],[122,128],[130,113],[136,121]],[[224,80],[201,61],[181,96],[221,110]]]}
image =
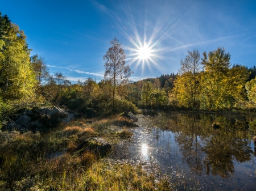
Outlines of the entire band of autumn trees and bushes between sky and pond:
{"label": "entire band of autumn trees and bushes between sky and pond", "polygon": [[130,82],[125,51],[116,38],[104,55],[105,75],[72,84],[61,73],[49,74],[43,57],[30,56],[26,35],[0,12],[0,115],[24,107],[59,105],[86,116],[139,108],[255,109],[256,68],[230,63],[225,48],[188,51],[177,74]]}

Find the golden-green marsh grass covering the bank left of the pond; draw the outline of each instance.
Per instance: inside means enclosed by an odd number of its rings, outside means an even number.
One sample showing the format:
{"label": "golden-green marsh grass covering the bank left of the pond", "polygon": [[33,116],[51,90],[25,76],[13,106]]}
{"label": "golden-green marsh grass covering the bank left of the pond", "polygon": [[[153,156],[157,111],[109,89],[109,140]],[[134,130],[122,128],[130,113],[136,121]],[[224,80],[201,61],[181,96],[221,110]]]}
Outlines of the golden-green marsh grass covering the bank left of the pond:
{"label": "golden-green marsh grass covering the bank left of the pond", "polygon": [[[46,133],[0,131],[0,190],[172,190],[141,166],[72,152],[89,137],[131,137],[126,118],[81,118]],[[117,131],[123,129],[122,131]],[[117,132],[117,133],[116,133]]]}

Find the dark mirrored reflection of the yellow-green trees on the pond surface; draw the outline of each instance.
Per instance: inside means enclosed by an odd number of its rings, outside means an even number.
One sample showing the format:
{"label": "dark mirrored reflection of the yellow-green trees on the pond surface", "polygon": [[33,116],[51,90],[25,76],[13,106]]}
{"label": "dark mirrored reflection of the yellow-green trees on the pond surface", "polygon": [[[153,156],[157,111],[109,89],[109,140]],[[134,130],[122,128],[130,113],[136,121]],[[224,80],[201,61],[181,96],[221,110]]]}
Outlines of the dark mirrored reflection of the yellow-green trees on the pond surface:
{"label": "dark mirrored reflection of the yellow-green trees on the pond surface", "polygon": [[[221,128],[214,130],[213,122]],[[251,159],[246,118],[183,113],[170,117],[168,123],[168,129],[178,132],[176,141],[191,172],[201,175],[205,168],[207,174],[229,177],[234,173],[234,160]]]}

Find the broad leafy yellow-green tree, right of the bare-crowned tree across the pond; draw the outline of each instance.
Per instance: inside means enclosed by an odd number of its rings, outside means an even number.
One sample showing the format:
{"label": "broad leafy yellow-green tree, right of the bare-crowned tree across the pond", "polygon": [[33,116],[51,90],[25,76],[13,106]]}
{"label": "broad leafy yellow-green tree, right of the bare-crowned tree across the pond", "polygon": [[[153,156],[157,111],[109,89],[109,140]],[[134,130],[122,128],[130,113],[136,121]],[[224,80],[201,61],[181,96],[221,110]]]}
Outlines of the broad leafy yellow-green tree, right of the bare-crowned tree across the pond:
{"label": "broad leafy yellow-green tree, right of the bare-crowned tree across the pond", "polygon": [[230,54],[225,48],[203,53],[204,66],[200,107],[218,111],[232,108],[237,98],[242,99],[243,86],[249,77],[246,67],[234,65],[230,68]]}

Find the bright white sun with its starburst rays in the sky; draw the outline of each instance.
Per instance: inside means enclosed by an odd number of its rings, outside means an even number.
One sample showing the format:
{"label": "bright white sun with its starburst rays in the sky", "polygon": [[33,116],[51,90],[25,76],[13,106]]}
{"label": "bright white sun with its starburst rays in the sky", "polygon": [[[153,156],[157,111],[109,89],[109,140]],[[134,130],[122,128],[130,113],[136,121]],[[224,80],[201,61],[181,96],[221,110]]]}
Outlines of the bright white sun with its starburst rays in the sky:
{"label": "bright white sun with its starburst rays in the sky", "polygon": [[154,75],[156,70],[166,73],[166,68],[159,63],[160,60],[168,60],[164,55],[167,47],[164,47],[163,41],[168,37],[165,33],[170,31],[170,28],[164,26],[163,23],[156,23],[155,27],[148,26],[148,24],[138,26],[132,15],[128,11],[129,22],[125,26],[118,26],[130,41],[130,44],[124,47],[129,51],[126,62],[130,66],[133,65],[134,71],[139,69],[141,75],[148,74],[148,71]]}

